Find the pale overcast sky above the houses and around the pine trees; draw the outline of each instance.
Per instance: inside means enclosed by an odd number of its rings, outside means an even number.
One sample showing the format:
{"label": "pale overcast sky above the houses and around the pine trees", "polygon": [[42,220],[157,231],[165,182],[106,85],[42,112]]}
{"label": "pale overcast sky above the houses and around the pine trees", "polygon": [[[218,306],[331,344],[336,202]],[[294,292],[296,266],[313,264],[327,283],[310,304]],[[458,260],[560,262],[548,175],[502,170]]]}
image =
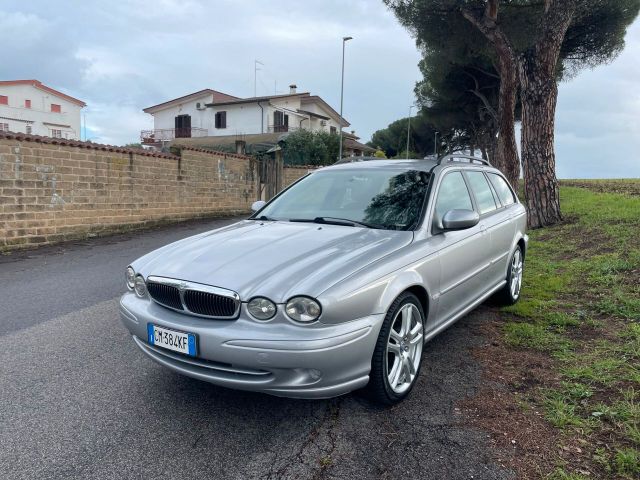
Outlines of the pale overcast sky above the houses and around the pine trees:
{"label": "pale overcast sky above the houses and around the pine trees", "polygon": [[[364,141],[407,115],[419,79],[414,40],[381,0],[0,0],[0,80],[35,78],[84,100],[88,137],[124,144],[153,126],[144,107],[203,88],[298,91],[340,101]],[[640,21],[612,64],[563,83],[561,178],[640,176]]]}

